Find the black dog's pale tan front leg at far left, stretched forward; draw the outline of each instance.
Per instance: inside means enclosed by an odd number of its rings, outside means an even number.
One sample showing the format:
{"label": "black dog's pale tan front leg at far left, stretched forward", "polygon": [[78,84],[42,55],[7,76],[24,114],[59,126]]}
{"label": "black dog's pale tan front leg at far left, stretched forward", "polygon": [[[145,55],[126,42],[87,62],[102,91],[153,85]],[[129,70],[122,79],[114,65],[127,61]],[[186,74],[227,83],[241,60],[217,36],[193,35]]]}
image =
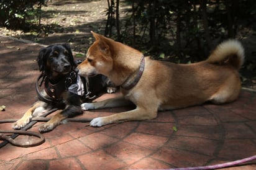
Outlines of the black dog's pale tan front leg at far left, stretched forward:
{"label": "black dog's pale tan front leg at far left, stretched forward", "polygon": [[33,117],[37,117],[37,114],[42,113],[45,110],[46,110],[45,102],[42,102],[42,101],[35,102],[32,105],[32,107],[30,107],[29,110],[25,112],[25,114],[21,119],[17,120],[17,122],[15,123],[12,123],[12,128],[21,129],[25,127],[25,125],[27,125]]}

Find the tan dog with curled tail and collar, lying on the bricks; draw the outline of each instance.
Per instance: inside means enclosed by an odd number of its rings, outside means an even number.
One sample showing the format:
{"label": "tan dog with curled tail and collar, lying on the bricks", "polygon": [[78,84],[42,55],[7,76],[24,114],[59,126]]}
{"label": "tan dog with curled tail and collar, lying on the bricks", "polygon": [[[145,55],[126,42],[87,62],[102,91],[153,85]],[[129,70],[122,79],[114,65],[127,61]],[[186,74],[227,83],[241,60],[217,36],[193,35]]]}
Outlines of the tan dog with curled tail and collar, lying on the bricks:
{"label": "tan dog with curled tail and collar, lying on the bricks", "polygon": [[244,62],[244,48],[237,40],[221,43],[208,60],[175,64],[149,57],[110,38],[92,32],[96,41],[89,47],[86,60],[78,65],[81,76],[104,74],[117,86],[122,97],[82,104],[84,110],[127,105],[134,110],[98,117],[91,126],[129,120],[149,120],[158,110],[177,109],[211,101],[232,102],[239,96],[238,70]]}

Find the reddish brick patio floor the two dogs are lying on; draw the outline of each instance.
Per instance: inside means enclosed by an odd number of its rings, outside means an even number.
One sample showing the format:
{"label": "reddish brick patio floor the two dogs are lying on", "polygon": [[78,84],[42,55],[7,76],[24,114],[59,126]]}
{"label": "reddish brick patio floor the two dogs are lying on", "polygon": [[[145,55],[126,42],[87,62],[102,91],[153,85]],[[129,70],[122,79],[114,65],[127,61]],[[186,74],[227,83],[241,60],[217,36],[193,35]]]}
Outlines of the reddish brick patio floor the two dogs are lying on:
{"label": "reddish brick patio floor the two dogs are lying on", "polygon": [[[0,105],[6,105],[0,119],[19,119],[37,98],[35,59],[41,47],[7,37],[0,42]],[[99,128],[68,122],[43,133],[46,141],[40,146],[0,148],[0,169],[170,169],[246,158],[256,154],[255,99],[255,92],[242,90],[231,104],[159,112],[150,121]],[[94,110],[80,117],[121,110],[129,108]],[[37,132],[39,125],[30,130]],[[0,129],[11,130],[11,123],[0,124]],[[256,169],[256,161],[227,169]]]}

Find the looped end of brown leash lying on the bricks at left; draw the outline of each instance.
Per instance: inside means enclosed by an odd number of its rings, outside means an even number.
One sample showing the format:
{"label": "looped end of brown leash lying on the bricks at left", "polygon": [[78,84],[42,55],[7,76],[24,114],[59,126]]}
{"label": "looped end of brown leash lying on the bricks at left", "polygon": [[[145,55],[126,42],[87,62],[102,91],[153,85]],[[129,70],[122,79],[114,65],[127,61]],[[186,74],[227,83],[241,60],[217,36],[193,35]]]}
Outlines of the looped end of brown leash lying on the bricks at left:
{"label": "looped end of brown leash lying on the bricks at left", "polygon": [[[39,140],[33,141],[31,143],[30,142],[29,143],[21,143],[17,140],[14,140],[13,138],[11,138],[11,136],[4,135],[3,133],[15,133],[15,134],[19,134],[19,135],[37,136],[39,138]],[[14,146],[19,146],[19,147],[24,147],[24,148],[38,146],[38,145],[41,145],[43,142],[45,142],[45,138],[43,135],[41,135],[40,133],[37,133],[37,132],[29,132],[27,130],[0,130],[0,140],[6,140]]]}

